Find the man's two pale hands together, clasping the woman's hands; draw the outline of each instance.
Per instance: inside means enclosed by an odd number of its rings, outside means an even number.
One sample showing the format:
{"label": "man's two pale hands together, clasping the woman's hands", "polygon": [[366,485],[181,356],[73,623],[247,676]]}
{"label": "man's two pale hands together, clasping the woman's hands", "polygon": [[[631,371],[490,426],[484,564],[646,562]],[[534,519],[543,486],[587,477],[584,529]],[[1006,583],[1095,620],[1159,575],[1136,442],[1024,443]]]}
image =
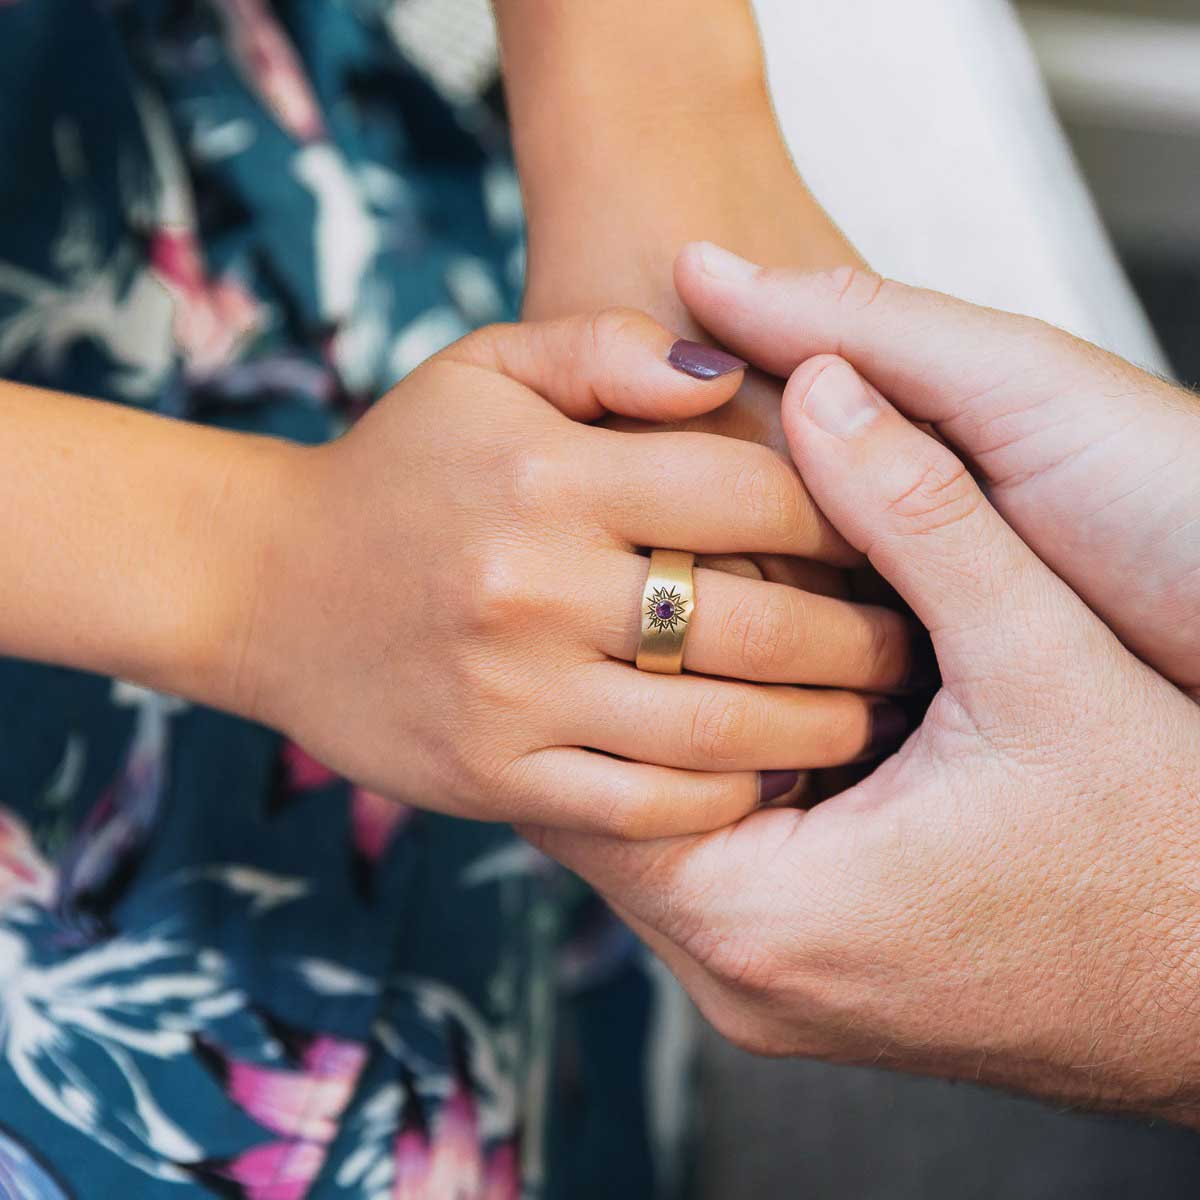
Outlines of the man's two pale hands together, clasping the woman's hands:
{"label": "man's two pale hands together, clasping the woman's hands", "polygon": [[793,372],[796,463],[944,683],[896,755],[809,812],[640,846],[530,836],[756,1051],[1200,1124],[1194,398],[863,272],[694,247],[678,278],[714,336]]}

